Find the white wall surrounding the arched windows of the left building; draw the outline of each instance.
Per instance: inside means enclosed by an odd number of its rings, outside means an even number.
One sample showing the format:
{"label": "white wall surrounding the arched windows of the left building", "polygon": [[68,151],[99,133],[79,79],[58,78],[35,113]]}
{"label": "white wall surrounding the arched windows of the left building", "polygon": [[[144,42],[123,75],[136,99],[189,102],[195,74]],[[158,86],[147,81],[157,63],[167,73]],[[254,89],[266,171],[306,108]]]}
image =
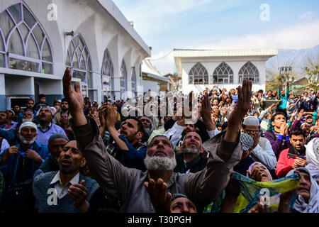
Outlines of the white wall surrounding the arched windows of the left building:
{"label": "white wall surrounding the arched windows of the left building", "polygon": [[[20,1],[1,1],[0,11],[3,11],[13,4],[17,4],[18,2]],[[103,63],[103,54],[106,48],[108,48],[108,52],[110,53],[113,62],[115,90],[119,89],[118,77],[123,58],[125,58],[126,69],[128,71],[128,91],[131,90],[130,82],[132,67],[134,66],[138,84],[141,83],[140,81],[142,78],[138,76],[140,74],[139,65],[145,57],[149,56],[149,52],[145,51],[145,43],[142,43],[141,45],[143,46],[141,46],[140,38],[138,41],[133,39],[128,33],[128,30],[125,30],[120,26],[118,21],[116,21],[106,9],[103,9],[101,4],[99,4],[99,1],[25,0],[24,2],[38,19],[50,39],[54,62],[53,71],[55,75],[52,77],[55,77],[56,79],[56,76],[60,76],[61,78],[65,72],[65,56],[67,55],[69,42],[72,40],[72,37],[65,36],[65,32],[74,31],[74,35],[77,33],[82,35],[89,50],[89,54],[91,55],[92,70],[94,72],[94,89],[97,89],[97,97],[92,97],[92,100],[97,100],[99,103],[102,101],[101,67]],[[47,20],[47,13],[49,13],[47,5],[51,3],[57,5],[57,21]],[[123,23],[123,21],[121,21],[121,23]],[[138,37],[136,34],[133,36]],[[28,75],[28,77],[30,77],[30,72],[21,72],[21,75]],[[35,77],[37,77],[36,74]],[[41,84],[43,88],[40,87],[40,90],[43,89],[43,91],[46,92],[48,87],[52,84],[52,87],[57,89],[57,92],[62,92],[61,86],[57,82],[47,80],[46,83],[47,84]],[[22,84],[21,87],[23,89]],[[24,85],[24,87],[26,87],[26,85]],[[18,85],[18,88],[20,88],[20,85]],[[11,90],[6,94],[13,94],[13,91]],[[17,92],[21,93],[21,90],[17,89]]]}

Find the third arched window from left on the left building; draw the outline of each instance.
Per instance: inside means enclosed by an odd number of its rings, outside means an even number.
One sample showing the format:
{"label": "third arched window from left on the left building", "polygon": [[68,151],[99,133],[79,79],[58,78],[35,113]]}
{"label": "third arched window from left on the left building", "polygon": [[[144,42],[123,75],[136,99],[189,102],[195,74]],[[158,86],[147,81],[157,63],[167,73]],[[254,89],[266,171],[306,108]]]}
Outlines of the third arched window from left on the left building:
{"label": "third arched window from left on the left building", "polygon": [[103,56],[103,65],[102,65],[102,87],[103,87],[103,100],[113,99],[114,91],[114,70],[113,62],[111,60],[110,53],[106,49]]}

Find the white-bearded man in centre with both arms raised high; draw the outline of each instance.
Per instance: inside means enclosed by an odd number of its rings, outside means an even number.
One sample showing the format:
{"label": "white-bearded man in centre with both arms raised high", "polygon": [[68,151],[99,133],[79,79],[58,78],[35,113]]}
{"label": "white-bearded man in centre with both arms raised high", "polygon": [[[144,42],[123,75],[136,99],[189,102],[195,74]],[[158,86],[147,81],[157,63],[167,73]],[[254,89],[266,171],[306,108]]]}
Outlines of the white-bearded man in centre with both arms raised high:
{"label": "white-bearded man in centre with both arms raised high", "polygon": [[[175,153],[166,136],[156,136],[148,145],[146,172],[124,167],[111,157],[103,144],[96,121],[84,116],[84,101],[79,82],[74,84],[73,90],[71,79],[71,70],[67,68],[63,77],[63,93],[69,102],[72,128],[79,150],[89,165],[92,177],[101,185],[106,195],[121,201],[121,212],[155,212],[152,206],[154,194],[149,194],[150,191],[156,192],[155,188],[166,187],[170,196],[174,193],[185,194],[194,202],[198,212],[203,211],[205,206],[223,192],[230,179],[230,170],[242,156],[242,146],[239,143],[240,124],[250,109],[252,82],[244,79],[242,87],[238,87],[237,105],[228,117],[228,131],[219,133],[206,142],[204,148],[210,152],[207,167],[200,172],[185,175],[174,172]],[[108,111],[114,110],[108,108]]]}

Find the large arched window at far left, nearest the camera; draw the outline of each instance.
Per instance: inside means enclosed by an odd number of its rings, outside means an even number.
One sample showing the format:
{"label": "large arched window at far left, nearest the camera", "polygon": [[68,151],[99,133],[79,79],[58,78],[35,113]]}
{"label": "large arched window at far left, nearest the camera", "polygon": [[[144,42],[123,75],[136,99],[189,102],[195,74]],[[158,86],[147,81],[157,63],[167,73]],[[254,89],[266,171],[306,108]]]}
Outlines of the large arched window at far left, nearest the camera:
{"label": "large arched window at far left, nearest the camera", "polygon": [[49,38],[23,2],[0,13],[0,67],[53,74]]}

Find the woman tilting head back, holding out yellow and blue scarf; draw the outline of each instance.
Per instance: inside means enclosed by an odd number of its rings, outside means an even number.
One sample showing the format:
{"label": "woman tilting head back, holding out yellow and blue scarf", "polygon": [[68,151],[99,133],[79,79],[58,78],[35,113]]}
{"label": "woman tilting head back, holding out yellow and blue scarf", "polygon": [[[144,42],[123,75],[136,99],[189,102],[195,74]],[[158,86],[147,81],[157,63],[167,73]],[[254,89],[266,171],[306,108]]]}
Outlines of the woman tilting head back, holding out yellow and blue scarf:
{"label": "woman tilting head back, holding out yellow and blue scarf", "polygon": [[[235,178],[234,176],[230,177],[230,182],[225,188],[225,197],[223,196],[223,201],[220,205],[220,213],[289,213],[289,202],[291,196],[293,196],[296,191],[295,189],[298,183],[296,180],[292,178],[282,178],[272,182],[272,175],[269,170],[267,170],[267,167],[260,162],[253,162],[250,165],[246,177],[238,173],[234,173],[233,175],[235,175]],[[247,177],[250,179],[247,179]],[[239,184],[237,184],[236,181]],[[266,202],[262,204],[260,200],[261,197],[258,196],[259,201],[251,207],[251,202],[254,201],[256,195],[259,194],[257,192],[262,192],[262,189],[265,188],[268,188],[272,192],[272,195],[269,194],[269,204]],[[206,207],[206,211],[208,211],[208,209],[211,209],[211,212],[216,212],[219,207],[217,209],[216,205],[215,207]]]}

